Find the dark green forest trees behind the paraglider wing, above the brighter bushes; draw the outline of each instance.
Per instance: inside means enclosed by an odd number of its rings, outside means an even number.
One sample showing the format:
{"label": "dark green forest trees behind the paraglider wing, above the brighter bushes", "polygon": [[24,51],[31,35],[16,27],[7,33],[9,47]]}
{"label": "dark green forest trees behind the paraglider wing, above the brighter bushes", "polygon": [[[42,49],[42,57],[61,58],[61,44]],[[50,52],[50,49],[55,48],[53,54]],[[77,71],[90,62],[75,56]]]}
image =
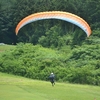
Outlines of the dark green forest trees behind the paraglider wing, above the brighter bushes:
{"label": "dark green forest trees behind the paraglider wing, above the brighter bushes", "polygon": [[[29,24],[22,28],[19,35],[15,35],[18,22],[27,15],[43,11],[67,11],[85,19],[93,30],[100,26],[100,0],[4,0],[0,1],[0,42],[16,44],[29,42],[43,44],[50,47],[57,46],[59,41],[68,34],[77,33],[77,39],[82,41],[86,36],[78,27],[59,20],[43,20]],[[58,31],[57,31],[58,30]],[[79,30],[79,31],[77,31]],[[48,38],[48,34],[50,39]],[[51,34],[53,34],[51,36]],[[80,36],[81,35],[81,36]],[[57,36],[55,41],[55,36]],[[75,37],[75,36],[72,36]],[[81,39],[80,39],[81,37]],[[46,41],[45,41],[46,40]],[[58,41],[58,42],[57,42]],[[54,43],[55,42],[55,43]],[[46,43],[46,44],[45,44]],[[78,43],[74,39],[74,44]]]}

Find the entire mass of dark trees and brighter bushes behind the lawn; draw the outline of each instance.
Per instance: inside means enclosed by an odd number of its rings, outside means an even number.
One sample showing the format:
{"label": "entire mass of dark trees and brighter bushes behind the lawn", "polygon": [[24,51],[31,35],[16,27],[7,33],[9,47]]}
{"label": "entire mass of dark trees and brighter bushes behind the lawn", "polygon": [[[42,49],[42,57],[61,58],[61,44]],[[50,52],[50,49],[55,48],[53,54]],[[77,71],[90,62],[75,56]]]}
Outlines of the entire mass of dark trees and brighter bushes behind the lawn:
{"label": "entire mass of dark trees and brighter bushes behind the lawn", "polygon": [[[18,43],[0,53],[0,71],[41,80],[54,72],[57,81],[100,85],[99,4],[100,0],[0,0],[0,42]],[[52,10],[82,17],[92,35],[87,38],[80,28],[60,20],[37,21],[15,35],[22,18]]]}

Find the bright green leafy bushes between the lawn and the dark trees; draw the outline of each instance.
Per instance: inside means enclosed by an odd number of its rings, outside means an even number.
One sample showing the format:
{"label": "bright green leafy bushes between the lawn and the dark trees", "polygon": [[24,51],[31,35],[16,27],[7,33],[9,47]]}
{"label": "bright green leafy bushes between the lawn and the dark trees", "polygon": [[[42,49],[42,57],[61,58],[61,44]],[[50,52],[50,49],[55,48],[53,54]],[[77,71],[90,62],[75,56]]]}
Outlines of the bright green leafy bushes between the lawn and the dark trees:
{"label": "bright green leafy bushes between the lawn and the dark trees", "polygon": [[20,43],[0,54],[0,71],[46,81],[53,72],[59,82],[100,85],[99,53],[100,45],[58,51]]}

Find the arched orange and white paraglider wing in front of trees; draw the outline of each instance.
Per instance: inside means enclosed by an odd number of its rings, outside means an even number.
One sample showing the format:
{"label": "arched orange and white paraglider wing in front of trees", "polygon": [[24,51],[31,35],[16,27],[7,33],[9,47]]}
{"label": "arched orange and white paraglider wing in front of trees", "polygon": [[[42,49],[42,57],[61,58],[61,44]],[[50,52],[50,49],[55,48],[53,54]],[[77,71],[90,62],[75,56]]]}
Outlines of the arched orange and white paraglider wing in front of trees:
{"label": "arched orange and white paraglider wing in front of trees", "polygon": [[83,20],[79,16],[72,13],[68,13],[68,12],[50,11],[50,12],[35,13],[22,19],[16,27],[16,30],[15,30],[16,35],[18,34],[18,31],[26,24],[34,22],[34,21],[38,21],[38,20],[43,20],[43,19],[64,20],[80,27],[87,34],[87,36],[90,36],[91,34],[90,26],[85,20]]}

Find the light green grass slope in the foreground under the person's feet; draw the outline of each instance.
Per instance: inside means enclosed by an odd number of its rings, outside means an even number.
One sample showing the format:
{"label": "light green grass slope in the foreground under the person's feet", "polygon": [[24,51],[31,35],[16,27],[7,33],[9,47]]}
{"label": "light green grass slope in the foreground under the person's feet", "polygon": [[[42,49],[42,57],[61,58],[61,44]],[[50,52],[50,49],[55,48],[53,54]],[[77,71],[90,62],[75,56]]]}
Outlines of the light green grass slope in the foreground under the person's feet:
{"label": "light green grass slope in the foreground under the person's feet", "polygon": [[0,73],[0,100],[100,100],[100,87],[32,80]]}

